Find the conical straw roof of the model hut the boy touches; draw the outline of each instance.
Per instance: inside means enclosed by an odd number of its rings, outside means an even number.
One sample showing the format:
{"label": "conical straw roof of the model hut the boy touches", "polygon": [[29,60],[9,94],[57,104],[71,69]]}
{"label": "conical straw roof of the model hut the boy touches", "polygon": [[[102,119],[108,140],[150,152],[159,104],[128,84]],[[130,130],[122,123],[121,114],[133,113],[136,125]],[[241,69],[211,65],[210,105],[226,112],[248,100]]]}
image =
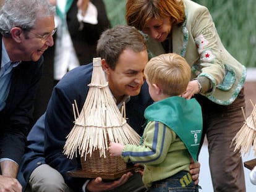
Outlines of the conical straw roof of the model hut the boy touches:
{"label": "conical straw roof of the model hut the boy touches", "polygon": [[[113,95],[108,88],[105,73],[101,67],[101,58],[93,58],[92,81],[83,109],[79,113],[74,101],[73,111],[75,125],[67,135],[64,154],[72,159],[79,156],[87,159],[94,151],[106,158],[110,142],[122,144],[139,144],[140,136],[127,124],[125,106],[122,112],[116,106]],[[78,149],[78,150],[77,150]]]}

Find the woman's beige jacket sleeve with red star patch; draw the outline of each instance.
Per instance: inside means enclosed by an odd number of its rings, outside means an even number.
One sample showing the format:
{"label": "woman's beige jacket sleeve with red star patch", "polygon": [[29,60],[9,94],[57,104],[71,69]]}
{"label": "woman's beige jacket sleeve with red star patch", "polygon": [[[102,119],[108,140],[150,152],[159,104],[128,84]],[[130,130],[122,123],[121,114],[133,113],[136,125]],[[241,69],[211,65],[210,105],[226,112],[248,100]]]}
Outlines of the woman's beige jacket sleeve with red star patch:
{"label": "woman's beige jacket sleeve with red star patch", "polygon": [[[198,77],[207,77],[210,85],[215,90],[216,85],[224,80],[225,67],[223,54],[221,54],[221,40],[215,28],[215,23],[211,18],[207,7],[197,7],[197,12],[189,15],[187,22],[191,22],[191,32],[194,37],[197,51],[199,54],[198,63],[192,67],[194,73],[200,73]],[[189,17],[188,16],[188,17]],[[209,90],[210,87],[206,88]]]}

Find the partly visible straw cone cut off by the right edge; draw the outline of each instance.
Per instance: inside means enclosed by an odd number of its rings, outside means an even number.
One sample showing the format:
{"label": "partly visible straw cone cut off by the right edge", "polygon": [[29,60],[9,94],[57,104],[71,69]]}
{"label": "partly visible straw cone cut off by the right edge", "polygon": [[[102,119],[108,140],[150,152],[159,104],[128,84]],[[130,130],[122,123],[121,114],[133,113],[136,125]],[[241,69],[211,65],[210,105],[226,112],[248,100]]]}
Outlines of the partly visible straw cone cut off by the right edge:
{"label": "partly visible straw cone cut off by the right edge", "polygon": [[244,109],[242,108],[245,122],[231,143],[235,145],[234,151],[239,150],[244,155],[249,154],[251,147],[254,150],[254,155],[256,155],[256,106],[251,100],[250,103],[254,107],[252,113],[246,119]]}

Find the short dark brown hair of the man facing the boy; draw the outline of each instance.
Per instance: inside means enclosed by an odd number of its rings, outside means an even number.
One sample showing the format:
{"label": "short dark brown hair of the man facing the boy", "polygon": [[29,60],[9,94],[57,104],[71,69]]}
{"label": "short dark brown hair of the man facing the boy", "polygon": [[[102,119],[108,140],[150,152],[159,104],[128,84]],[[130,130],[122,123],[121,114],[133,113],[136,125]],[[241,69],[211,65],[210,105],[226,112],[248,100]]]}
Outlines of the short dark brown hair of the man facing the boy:
{"label": "short dark brown hair of the man facing the boy", "polygon": [[97,55],[106,59],[111,69],[115,69],[120,54],[125,49],[135,52],[147,50],[143,35],[134,27],[128,25],[116,25],[104,31],[97,44]]}

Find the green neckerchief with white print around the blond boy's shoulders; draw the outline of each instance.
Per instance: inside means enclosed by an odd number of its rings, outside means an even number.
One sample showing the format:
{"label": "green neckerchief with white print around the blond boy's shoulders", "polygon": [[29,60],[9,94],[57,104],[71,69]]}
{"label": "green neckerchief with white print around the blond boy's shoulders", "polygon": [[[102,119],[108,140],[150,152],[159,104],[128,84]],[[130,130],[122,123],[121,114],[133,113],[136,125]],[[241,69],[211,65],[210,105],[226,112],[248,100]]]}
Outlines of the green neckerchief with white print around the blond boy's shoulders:
{"label": "green neckerchief with white print around the blond boy's shoulders", "polygon": [[202,109],[195,99],[180,96],[166,98],[148,106],[144,116],[148,121],[158,121],[171,128],[197,161],[203,119]]}

